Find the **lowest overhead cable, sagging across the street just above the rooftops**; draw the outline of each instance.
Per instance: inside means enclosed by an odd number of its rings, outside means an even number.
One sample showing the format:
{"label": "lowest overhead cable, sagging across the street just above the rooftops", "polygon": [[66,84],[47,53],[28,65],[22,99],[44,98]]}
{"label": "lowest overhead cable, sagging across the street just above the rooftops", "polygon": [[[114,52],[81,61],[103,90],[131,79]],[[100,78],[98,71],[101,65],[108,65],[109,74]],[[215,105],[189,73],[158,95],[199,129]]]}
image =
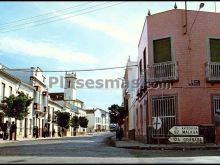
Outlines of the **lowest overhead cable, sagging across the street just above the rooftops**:
{"label": "lowest overhead cable, sagging across the street just above the rooftops", "polygon": [[[88,72],[88,71],[98,71],[98,70],[111,70],[111,69],[121,69],[121,68],[130,68],[137,67],[137,65],[127,65],[127,66],[118,66],[118,67],[109,67],[109,68],[95,68],[95,69],[75,69],[75,70],[38,70],[36,72]],[[20,72],[32,72],[32,69],[9,69],[2,68],[0,71],[20,71]]]}

